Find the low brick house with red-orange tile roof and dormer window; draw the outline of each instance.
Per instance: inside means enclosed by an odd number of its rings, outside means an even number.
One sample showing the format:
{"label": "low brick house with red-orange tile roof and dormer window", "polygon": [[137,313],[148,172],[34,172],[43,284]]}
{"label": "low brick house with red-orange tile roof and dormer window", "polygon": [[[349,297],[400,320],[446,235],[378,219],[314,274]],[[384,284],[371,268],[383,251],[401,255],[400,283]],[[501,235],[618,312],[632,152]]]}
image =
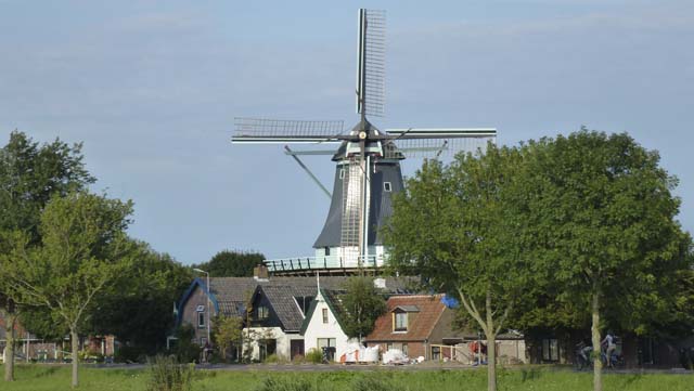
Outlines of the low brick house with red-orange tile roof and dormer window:
{"label": "low brick house with red-orange tile roof and dormer window", "polygon": [[[367,346],[380,346],[382,353],[398,349],[411,359],[422,356],[472,364],[478,355],[471,348],[480,343],[480,336],[455,329],[455,311],[445,301],[444,295],[390,297],[387,312],[376,320],[367,337]],[[505,355],[509,360],[525,362],[522,335],[499,336],[497,351],[500,357]]]}

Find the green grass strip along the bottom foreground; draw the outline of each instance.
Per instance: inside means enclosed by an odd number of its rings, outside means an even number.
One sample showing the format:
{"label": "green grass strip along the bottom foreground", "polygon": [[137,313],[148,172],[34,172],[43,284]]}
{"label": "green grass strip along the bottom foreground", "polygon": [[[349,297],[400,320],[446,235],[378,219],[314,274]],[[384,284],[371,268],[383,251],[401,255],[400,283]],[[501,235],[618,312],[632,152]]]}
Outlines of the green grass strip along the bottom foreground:
{"label": "green grass strip along the bottom foreground", "polygon": [[[147,372],[144,369],[100,369],[85,367],[80,370],[79,390],[138,391],[145,390]],[[273,380],[280,385],[272,383]],[[226,372],[198,370],[193,382],[194,390],[245,391],[278,390],[290,385],[286,390],[325,391],[452,391],[486,390],[486,372],[475,370],[378,370],[373,372],[312,372],[277,373],[264,370]],[[670,374],[605,374],[605,390],[667,390],[694,391],[693,375]],[[301,387],[305,386],[305,387]],[[501,370],[499,390],[524,391],[583,391],[592,387],[588,373],[551,370],[539,367]],[[44,365],[20,365],[16,381],[0,382],[2,391],[69,390],[69,367]],[[262,390],[265,390],[262,389]]]}

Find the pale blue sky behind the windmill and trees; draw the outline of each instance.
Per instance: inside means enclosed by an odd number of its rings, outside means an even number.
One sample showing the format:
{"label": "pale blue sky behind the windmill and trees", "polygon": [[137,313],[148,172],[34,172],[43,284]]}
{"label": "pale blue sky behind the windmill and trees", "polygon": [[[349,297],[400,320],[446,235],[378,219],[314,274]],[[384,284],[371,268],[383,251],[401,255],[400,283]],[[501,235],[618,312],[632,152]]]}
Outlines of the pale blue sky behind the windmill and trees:
{"label": "pale blue sky behind the windmill and trees", "polygon": [[[680,179],[694,229],[694,2],[423,4],[0,0],[0,143],[83,141],[94,190],[131,198],[131,234],[183,263],[310,256],[327,198],[280,145],[231,145],[233,118],[351,126],[357,9],[385,9],[376,126],[628,131]],[[305,161],[332,187],[325,157]]]}

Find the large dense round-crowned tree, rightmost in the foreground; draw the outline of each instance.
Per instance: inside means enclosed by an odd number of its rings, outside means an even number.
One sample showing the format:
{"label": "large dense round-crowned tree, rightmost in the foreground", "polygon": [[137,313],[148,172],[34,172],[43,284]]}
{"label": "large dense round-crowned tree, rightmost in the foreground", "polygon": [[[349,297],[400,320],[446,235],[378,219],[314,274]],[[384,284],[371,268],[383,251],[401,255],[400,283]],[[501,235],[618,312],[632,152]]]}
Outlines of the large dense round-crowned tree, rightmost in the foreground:
{"label": "large dense round-crowned tree, rightmost in the foreground", "polygon": [[[691,268],[677,180],[658,162],[627,134],[582,129],[528,144],[515,232],[549,295],[590,316],[594,352],[605,321],[640,333],[668,318],[671,287]],[[601,374],[595,360],[595,390]]]}

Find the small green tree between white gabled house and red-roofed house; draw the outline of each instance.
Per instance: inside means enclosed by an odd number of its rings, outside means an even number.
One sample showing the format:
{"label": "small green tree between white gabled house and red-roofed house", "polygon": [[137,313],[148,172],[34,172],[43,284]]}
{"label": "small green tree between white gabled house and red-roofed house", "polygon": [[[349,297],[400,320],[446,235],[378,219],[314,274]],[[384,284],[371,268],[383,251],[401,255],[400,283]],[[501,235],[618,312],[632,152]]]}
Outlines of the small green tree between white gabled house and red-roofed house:
{"label": "small green tree between white gabled house and red-roofed house", "polygon": [[343,331],[349,338],[361,340],[373,330],[378,316],[386,312],[386,301],[370,277],[350,277],[344,288],[345,295],[340,297],[345,310]]}

